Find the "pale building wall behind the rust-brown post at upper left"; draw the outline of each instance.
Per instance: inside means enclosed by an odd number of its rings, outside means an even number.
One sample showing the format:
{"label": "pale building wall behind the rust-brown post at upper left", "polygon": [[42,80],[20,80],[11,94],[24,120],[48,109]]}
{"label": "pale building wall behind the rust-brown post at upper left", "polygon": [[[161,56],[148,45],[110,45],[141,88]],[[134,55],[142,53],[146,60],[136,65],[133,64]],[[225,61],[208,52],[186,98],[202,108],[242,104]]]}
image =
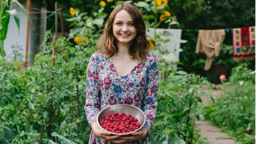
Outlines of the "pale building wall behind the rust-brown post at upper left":
{"label": "pale building wall behind the rust-brown post at upper left", "polygon": [[[27,10],[26,4],[23,5]],[[34,10],[33,8],[38,8],[35,4],[31,4],[32,9],[31,12],[39,12],[38,10]],[[23,51],[20,51],[23,54],[23,61],[25,61],[25,53],[26,53],[26,31],[27,31],[27,16],[23,14],[23,11],[18,7],[14,6],[12,9],[16,9],[18,12],[18,16],[20,18],[20,33],[18,33],[18,27],[14,20],[14,17],[10,17],[10,22],[8,25],[8,32],[6,40],[4,41],[4,50],[6,52],[6,56],[12,54],[12,44],[16,44],[18,42],[19,45],[22,45]],[[45,8],[42,8],[45,10]],[[36,17],[41,17],[40,19],[35,19]],[[44,26],[42,26],[42,24]],[[28,43],[28,62],[33,63],[34,56],[36,53],[40,51],[40,44],[42,40],[44,40],[44,34],[46,32],[46,13],[44,14],[31,14],[30,21],[30,32],[29,32],[29,43]],[[6,57],[6,60],[12,60],[13,56]]]}

